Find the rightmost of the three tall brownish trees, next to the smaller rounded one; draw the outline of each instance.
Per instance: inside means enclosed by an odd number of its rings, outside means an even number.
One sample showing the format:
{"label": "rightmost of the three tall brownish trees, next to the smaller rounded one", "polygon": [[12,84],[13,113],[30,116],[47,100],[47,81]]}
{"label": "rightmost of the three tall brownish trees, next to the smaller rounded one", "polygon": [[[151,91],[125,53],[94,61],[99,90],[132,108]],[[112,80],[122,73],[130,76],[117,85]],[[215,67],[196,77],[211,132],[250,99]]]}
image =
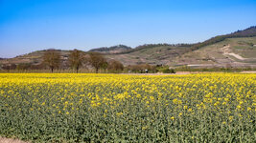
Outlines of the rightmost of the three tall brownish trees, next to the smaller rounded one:
{"label": "rightmost of the three tall brownish trees, next to the smaller rounded one", "polygon": [[105,57],[100,52],[89,52],[89,63],[95,68],[95,72],[98,73],[99,69],[107,67]]}

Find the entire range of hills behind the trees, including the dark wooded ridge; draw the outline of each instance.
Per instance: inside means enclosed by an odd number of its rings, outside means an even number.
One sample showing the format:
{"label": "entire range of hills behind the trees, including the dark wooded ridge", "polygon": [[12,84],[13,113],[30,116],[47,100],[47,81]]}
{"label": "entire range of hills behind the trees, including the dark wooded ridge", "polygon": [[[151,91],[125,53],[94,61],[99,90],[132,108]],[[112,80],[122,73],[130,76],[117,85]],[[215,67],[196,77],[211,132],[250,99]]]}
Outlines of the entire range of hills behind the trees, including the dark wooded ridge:
{"label": "entire range of hills behind the trees, including the dark wooded ridge", "polygon": [[[59,50],[60,51],[60,50]],[[124,65],[151,64],[190,67],[256,67],[256,27],[219,35],[197,44],[147,44],[131,49],[125,45],[99,48],[105,57]],[[0,59],[1,65],[42,62],[44,51]],[[70,51],[60,51],[62,65]]]}

